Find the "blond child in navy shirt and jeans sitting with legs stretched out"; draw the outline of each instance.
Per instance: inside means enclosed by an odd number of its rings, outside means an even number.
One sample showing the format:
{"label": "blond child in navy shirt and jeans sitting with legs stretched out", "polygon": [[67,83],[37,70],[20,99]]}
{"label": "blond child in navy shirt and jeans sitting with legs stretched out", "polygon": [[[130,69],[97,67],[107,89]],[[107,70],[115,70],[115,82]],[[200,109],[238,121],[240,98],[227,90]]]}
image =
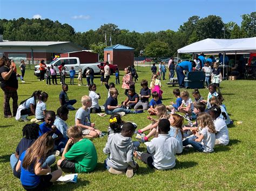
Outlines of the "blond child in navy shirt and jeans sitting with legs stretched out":
{"label": "blond child in navy shirt and jeans sitting with legs stretched out", "polygon": [[112,115],[117,112],[124,112],[124,114],[135,114],[135,111],[132,111],[130,109],[125,109],[122,107],[122,105],[118,105],[117,96],[118,91],[116,88],[111,88],[109,90],[110,97],[107,98],[105,103],[105,112],[108,115]]}

